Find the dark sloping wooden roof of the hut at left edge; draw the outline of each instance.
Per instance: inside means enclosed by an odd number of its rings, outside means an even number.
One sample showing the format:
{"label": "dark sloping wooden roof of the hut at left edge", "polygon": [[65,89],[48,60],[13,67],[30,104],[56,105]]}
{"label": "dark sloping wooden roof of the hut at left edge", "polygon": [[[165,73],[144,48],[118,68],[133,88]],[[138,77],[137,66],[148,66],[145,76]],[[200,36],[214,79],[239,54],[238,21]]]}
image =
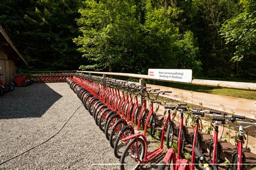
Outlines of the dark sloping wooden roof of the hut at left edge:
{"label": "dark sloping wooden roof of the hut at left edge", "polygon": [[28,63],[25,61],[18,49],[14,46],[13,42],[7,36],[2,26],[0,26],[0,49],[2,49],[2,51],[8,55],[9,60],[12,60],[15,63],[19,63],[21,65],[25,64],[28,66]]}

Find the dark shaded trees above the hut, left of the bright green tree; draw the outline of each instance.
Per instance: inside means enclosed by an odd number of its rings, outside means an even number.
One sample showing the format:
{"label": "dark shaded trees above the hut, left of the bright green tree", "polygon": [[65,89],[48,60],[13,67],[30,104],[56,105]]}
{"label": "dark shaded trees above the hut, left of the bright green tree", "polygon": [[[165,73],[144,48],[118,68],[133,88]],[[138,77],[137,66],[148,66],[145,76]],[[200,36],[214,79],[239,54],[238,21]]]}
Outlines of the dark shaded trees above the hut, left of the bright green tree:
{"label": "dark shaded trees above the hut, left of the bright green tree", "polygon": [[75,18],[80,1],[5,1],[0,24],[32,70],[77,69]]}

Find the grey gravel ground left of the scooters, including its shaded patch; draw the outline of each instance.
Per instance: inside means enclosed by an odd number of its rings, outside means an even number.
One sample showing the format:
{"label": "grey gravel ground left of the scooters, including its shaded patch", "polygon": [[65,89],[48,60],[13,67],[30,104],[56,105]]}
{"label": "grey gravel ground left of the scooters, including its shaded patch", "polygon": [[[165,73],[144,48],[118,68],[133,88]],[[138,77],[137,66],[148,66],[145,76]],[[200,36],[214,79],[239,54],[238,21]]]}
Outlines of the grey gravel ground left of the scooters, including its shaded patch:
{"label": "grey gravel ground left of the scooters, including its shaded patch", "polygon": [[[0,162],[51,137],[80,105],[67,83],[34,83],[0,96]],[[104,133],[80,107],[54,138],[0,168],[118,168],[106,165],[118,162]]]}

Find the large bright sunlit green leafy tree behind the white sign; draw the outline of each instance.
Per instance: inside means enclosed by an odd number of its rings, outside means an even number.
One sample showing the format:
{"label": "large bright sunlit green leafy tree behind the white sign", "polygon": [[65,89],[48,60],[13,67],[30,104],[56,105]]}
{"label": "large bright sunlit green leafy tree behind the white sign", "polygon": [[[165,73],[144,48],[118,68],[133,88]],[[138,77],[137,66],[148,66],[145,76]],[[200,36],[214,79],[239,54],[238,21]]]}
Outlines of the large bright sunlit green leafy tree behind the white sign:
{"label": "large bright sunlit green leafy tree behind the white sign", "polygon": [[[144,5],[144,6],[143,6]],[[147,73],[148,68],[191,68],[200,73],[197,40],[171,22],[181,11],[150,1],[86,1],[77,19],[78,51],[92,65],[81,69]],[[143,15],[142,15],[143,13]]]}

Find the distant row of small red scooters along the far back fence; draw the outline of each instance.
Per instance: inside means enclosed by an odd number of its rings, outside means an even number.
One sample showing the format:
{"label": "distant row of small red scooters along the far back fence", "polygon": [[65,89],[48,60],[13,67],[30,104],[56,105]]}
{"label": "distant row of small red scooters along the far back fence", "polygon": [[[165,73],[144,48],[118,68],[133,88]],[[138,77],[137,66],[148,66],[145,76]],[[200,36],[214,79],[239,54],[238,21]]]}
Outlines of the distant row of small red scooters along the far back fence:
{"label": "distant row of small red scooters along the far back fence", "polygon": [[38,83],[56,83],[66,82],[66,78],[72,78],[72,75],[62,75],[59,73],[52,73],[50,75],[42,74],[41,77],[34,77],[33,81]]}

